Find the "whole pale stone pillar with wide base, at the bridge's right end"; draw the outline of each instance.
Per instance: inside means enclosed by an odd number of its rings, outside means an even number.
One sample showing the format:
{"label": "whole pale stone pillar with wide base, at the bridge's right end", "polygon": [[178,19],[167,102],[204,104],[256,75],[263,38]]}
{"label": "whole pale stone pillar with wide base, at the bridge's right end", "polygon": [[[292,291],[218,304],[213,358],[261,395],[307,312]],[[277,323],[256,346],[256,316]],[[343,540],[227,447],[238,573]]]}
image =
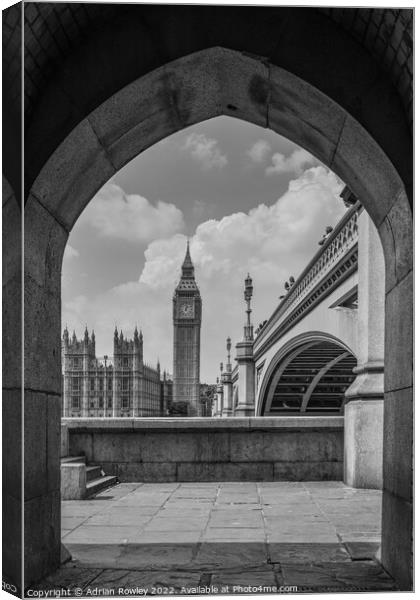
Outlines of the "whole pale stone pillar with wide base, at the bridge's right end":
{"label": "whole pale stone pillar with wide base, at the bridge's right end", "polygon": [[382,488],[385,266],[366,211],[358,219],[358,356],[344,407],[344,482]]}

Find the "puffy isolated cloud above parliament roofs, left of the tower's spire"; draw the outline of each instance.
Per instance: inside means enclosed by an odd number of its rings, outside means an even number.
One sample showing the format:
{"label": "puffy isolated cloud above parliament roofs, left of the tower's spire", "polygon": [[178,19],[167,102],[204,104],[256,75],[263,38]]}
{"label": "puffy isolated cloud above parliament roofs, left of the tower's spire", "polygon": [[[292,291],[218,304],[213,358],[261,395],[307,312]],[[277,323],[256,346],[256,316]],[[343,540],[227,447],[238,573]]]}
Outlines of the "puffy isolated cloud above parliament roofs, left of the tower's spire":
{"label": "puffy isolated cloud above parliament roofs, left of the tower's spire", "polygon": [[153,205],[138,194],[126,194],[115,183],[107,183],[99,190],[81,221],[103,237],[130,242],[165,238],[185,227],[183,214],[174,204],[159,200]]}

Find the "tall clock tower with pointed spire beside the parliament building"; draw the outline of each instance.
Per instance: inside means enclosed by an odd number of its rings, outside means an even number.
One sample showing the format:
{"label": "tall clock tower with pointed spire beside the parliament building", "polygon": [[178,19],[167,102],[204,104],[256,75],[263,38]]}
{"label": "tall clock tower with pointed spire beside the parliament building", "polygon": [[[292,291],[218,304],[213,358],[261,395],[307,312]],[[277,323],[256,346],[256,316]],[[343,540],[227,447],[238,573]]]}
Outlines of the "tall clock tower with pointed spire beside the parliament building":
{"label": "tall clock tower with pointed spire beside the parliament building", "polygon": [[190,245],[173,296],[174,365],[172,405],[179,416],[200,416],[201,296]]}

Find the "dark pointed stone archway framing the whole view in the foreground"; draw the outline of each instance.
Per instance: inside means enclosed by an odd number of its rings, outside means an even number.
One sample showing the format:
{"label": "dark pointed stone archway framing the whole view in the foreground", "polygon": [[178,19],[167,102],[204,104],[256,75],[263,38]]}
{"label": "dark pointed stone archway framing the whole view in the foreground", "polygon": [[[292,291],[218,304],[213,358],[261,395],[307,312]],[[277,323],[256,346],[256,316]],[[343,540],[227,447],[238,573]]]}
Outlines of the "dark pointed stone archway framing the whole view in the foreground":
{"label": "dark pointed stone archway framing the whole view in the foreground", "polygon": [[[39,494],[28,501],[26,581],[58,565],[60,273],[68,233],[94,193],[158,140],[221,114],[290,138],[333,169],[362,200],[381,235],[387,270],[384,531],[382,561],[410,585],[411,212],[405,186],[377,142],[342,108],[290,72],[224,48],[168,63],[124,87],[81,120],[34,181],[25,211],[25,374],[37,439]],[[401,365],[403,367],[401,368]],[[38,390],[49,390],[45,393]],[[37,403],[45,423],[36,426]],[[45,435],[44,435],[45,434]],[[407,445],[407,447],[405,446]],[[404,448],[402,447],[404,445]],[[45,462],[47,464],[45,471]],[[32,515],[41,515],[36,525]]]}

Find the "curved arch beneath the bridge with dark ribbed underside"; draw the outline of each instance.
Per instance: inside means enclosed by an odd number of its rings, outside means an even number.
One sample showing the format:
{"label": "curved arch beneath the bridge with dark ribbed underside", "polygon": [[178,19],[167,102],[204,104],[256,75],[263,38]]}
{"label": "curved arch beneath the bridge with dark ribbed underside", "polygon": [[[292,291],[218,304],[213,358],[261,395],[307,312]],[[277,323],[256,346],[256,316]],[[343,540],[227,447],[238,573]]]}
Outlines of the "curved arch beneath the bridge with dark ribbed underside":
{"label": "curved arch beneath the bridge with dark ribbed underside", "polygon": [[257,415],[342,414],[357,360],[338,338],[319,331],[296,336],[270,361],[257,397]]}

